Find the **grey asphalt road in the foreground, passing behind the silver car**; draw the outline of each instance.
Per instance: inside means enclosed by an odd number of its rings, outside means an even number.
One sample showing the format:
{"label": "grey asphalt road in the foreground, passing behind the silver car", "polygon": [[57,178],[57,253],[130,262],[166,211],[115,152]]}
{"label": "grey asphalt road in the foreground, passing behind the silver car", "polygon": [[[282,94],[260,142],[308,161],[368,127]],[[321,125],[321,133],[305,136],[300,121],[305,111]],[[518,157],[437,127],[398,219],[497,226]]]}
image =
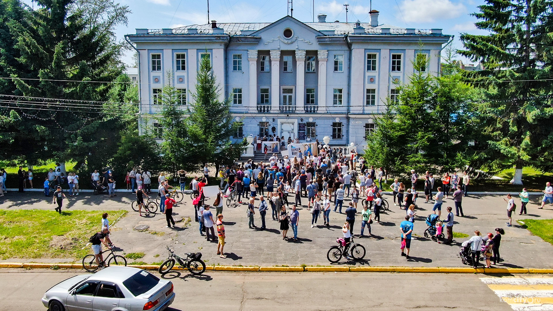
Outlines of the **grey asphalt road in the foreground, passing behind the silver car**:
{"label": "grey asphalt road in the foreground, passing behind the silver car", "polygon": [[[0,310],[45,310],[40,302],[44,292],[81,273],[0,269]],[[477,274],[206,271],[192,277],[180,273],[166,276],[175,285],[171,311],[512,310],[481,281],[486,276]]]}

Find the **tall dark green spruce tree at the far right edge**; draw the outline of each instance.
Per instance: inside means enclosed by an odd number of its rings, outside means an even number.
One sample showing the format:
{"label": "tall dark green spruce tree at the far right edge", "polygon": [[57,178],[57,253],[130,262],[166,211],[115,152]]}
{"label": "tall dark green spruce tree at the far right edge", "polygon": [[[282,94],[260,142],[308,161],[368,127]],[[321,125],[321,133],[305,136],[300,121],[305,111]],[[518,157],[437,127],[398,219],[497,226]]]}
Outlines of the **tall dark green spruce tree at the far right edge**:
{"label": "tall dark green spruce tree at the far right edge", "polygon": [[476,164],[514,166],[511,183],[522,184],[524,165],[552,167],[553,1],[486,0],[478,8],[475,25],[489,34],[463,33],[466,50],[458,51],[485,68],[469,74],[486,99],[478,106]]}

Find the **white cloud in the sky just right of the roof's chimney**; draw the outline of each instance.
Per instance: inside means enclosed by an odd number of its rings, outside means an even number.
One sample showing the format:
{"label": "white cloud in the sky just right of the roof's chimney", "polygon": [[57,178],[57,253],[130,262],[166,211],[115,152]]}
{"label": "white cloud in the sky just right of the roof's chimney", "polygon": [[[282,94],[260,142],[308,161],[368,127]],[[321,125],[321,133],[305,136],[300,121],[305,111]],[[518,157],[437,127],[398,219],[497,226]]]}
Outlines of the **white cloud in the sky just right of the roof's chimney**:
{"label": "white cloud in the sky just right of the roof's chimney", "polygon": [[466,7],[450,0],[404,0],[401,12],[405,22],[429,23],[459,17]]}

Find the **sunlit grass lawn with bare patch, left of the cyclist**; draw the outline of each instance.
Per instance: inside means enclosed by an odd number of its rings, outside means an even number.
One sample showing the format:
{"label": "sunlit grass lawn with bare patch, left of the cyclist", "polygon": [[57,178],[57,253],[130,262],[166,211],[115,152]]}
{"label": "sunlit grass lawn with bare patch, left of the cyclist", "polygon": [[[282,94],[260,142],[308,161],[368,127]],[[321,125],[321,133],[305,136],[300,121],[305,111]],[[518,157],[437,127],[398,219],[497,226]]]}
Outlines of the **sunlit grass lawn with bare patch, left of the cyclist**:
{"label": "sunlit grass lawn with bare patch, left of the cyclist", "polygon": [[[0,210],[0,257],[76,258],[91,253],[103,211]],[[127,211],[109,212],[111,221]]]}

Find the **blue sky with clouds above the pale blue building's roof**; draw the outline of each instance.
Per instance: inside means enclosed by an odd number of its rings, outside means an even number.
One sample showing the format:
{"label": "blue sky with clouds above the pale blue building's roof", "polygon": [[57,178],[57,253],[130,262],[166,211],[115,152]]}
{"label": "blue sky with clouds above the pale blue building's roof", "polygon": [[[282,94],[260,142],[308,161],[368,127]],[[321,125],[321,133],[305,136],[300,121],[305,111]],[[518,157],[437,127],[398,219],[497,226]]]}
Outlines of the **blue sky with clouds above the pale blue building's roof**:
{"label": "blue sky with clouds above the pale blue building's roof", "polygon": [[[30,2],[30,0],[25,0]],[[117,2],[117,0],[116,0]],[[174,28],[182,25],[207,23],[206,0],[119,0],[129,6],[128,27],[119,27],[117,35],[135,33],[135,28]],[[294,0],[294,18],[311,22],[316,15],[327,15],[327,22],[346,21],[343,4],[349,4],[348,22],[359,19],[369,21],[369,1]],[[286,15],[286,0],[210,0],[210,19],[219,23],[274,22]],[[484,34],[474,27],[476,18],[469,15],[477,12],[483,0],[394,0],[373,1],[372,8],[380,11],[379,23],[405,28],[442,28],[445,34],[455,35],[454,44],[462,48],[459,33]],[[124,58],[131,64],[131,55]]]}

